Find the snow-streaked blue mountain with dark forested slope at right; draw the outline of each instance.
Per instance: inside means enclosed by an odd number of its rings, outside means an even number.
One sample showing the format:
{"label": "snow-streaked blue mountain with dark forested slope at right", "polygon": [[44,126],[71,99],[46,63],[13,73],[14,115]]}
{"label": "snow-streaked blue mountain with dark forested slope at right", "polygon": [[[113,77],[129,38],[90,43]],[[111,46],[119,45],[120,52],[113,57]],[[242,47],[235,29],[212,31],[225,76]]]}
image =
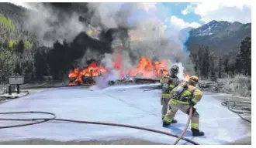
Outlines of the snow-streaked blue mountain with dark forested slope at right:
{"label": "snow-streaked blue mountain with dark forested slope at right", "polygon": [[251,76],[251,23],[213,20],[189,34],[186,45],[202,79]]}

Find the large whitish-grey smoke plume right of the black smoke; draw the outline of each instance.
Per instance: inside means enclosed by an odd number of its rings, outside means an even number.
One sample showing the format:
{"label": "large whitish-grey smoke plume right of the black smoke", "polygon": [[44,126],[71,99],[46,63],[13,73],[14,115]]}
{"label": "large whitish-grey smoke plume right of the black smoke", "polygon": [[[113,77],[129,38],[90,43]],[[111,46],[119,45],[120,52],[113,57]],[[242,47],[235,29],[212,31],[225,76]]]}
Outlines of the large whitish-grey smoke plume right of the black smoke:
{"label": "large whitish-grey smoke plume right of the black smoke", "polygon": [[[182,67],[182,73],[193,72],[188,53],[185,52],[184,42],[189,37],[188,32],[182,32],[171,22],[164,22],[157,16],[157,11],[162,15],[168,14],[166,8],[157,10],[156,4],[147,3],[92,3],[88,7],[95,12],[92,20],[100,18],[99,22],[105,28],[126,28],[130,35],[130,47],[122,51],[123,67],[133,67],[141,56],[151,60],[168,60],[168,67],[175,63]],[[164,7],[164,5],[161,5]],[[141,17],[141,15],[143,15]],[[116,40],[122,40],[118,36]],[[106,56],[112,58],[112,56]],[[105,61],[109,61],[104,59]],[[107,64],[106,64],[107,65]],[[184,67],[184,68],[183,68]],[[184,70],[183,70],[184,69]]]}

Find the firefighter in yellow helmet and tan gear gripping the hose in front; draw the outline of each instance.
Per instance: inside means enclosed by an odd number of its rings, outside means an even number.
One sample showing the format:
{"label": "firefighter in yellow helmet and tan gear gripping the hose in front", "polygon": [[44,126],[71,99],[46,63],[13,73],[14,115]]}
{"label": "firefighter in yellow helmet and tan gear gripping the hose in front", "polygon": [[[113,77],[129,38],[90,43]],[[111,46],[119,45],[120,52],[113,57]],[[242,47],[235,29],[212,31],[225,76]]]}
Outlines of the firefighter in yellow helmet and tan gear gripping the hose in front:
{"label": "firefighter in yellow helmet and tan gear gripping the hose in front", "polygon": [[189,115],[189,108],[192,107],[191,130],[193,136],[203,136],[204,133],[199,131],[199,113],[193,107],[202,98],[202,92],[195,86],[198,83],[197,76],[191,76],[189,82],[182,82],[175,89],[171,90],[169,105],[171,109],[164,116],[163,126],[169,126],[175,119],[178,109]]}

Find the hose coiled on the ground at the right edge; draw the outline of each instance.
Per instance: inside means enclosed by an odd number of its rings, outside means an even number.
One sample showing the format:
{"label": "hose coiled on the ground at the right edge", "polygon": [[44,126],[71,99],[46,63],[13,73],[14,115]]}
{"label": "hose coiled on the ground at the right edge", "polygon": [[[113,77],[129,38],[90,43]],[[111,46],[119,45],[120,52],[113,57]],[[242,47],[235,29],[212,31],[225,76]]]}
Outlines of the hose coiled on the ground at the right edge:
{"label": "hose coiled on the ground at the right edge", "polygon": [[221,103],[221,105],[227,106],[231,112],[237,113],[237,115],[240,116],[241,119],[244,119],[248,123],[251,123],[250,120],[245,119],[243,116],[241,116],[241,115],[245,115],[245,114],[251,114],[251,101],[227,100],[227,101]]}

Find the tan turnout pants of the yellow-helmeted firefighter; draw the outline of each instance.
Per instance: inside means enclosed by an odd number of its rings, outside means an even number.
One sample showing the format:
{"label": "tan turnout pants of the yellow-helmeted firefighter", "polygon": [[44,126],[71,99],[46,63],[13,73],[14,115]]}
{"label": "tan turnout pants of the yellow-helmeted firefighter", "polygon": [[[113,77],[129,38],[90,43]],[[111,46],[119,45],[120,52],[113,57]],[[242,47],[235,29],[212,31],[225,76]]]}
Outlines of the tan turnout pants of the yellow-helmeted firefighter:
{"label": "tan turnout pants of the yellow-helmeted firefighter", "polygon": [[[177,101],[174,99],[171,99],[170,101],[171,109],[168,110],[168,113],[164,116],[164,121],[166,123],[171,123],[173,119],[175,119],[175,114],[178,112],[178,109],[180,109],[183,113],[189,115],[189,104],[186,102]],[[191,127],[194,129],[199,129],[199,113],[195,112],[192,113],[192,119],[191,119]]]}

